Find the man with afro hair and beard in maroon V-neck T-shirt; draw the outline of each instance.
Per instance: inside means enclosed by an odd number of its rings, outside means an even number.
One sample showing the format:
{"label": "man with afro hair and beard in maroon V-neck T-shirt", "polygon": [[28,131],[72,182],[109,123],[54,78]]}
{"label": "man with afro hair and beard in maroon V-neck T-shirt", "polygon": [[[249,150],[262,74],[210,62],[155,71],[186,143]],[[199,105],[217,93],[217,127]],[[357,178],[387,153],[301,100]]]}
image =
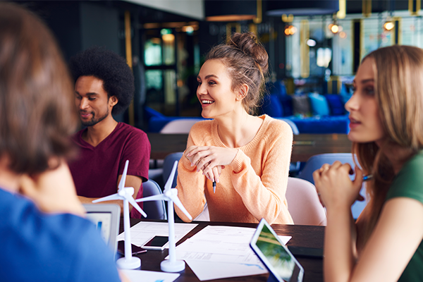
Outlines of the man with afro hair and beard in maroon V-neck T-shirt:
{"label": "man with afro hair and beard in maroon V-neck T-shirt", "polygon": [[[75,105],[87,127],[73,135],[80,154],[69,164],[80,201],[91,203],[116,193],[126,160],[125,187],[135,189],[135,199],[142,197],[151,149],[147,134],[112,116],[125,111],[133,99],[132,71],[121,56],[99,47],[73,56],[69,68],[75,79]],[[122,201],[111,202],[121,205],[123,211]],[[132,209],[131,216],[141,215]]]}

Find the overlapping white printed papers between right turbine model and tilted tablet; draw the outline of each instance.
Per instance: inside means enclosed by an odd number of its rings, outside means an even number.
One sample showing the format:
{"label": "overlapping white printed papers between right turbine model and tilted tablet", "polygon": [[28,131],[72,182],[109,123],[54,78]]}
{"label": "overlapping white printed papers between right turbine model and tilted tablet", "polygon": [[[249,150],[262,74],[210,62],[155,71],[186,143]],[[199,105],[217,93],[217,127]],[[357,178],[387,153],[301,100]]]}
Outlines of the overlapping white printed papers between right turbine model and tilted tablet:
{"label": "overlapping white printed papers between right turbine model and tilted tablet", "polygon": [[[176,247],[176,258],[183,259],[201,280],[265,274],[266,268],[250,248],[255,228],[207,226]],[[290,236],[283,236],[287,243]]]}

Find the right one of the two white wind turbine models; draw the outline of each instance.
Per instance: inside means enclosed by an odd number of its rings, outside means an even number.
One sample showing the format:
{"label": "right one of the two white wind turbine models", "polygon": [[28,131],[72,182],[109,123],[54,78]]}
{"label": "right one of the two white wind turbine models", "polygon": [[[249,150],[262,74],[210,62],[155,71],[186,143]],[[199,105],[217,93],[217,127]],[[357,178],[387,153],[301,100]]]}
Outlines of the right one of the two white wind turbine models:
{"label": "right one of the two white wind turbine models", "polygon": [[179,209],[188,216],[189,219],[192,219],[192,216],[188,211],[183,207],[183,204],[178,198],[178,190],[176,188],[171,188],[173,183],[173,178],[175,177],[176,167],[178,166],[178,161],[175,161],[166,184],[164,185],[164,191],[161,195],[154,195],[151,197],[146,197],[142,199],[135,200],[136,202],[145,202],[145,201],[157,201],[165,200],[168,202],[168,226],[169,226],[169,259],[165,259],[160,264],[162,271],[166,272],[179,272],[185,269],[185,262],[183,260],[176,260],[176,251],[175,251],[175,219],[173,218],[173,202],[179,207]]}

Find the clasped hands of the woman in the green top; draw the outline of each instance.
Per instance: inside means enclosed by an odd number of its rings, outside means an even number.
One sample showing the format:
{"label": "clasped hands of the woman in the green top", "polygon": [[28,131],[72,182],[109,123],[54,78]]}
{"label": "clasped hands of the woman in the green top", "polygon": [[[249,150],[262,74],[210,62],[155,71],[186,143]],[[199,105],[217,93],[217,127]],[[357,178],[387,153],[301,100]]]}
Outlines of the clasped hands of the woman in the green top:
{"label": "clasped hands of the woman in the green top", "polygon": [[350,164],[335,161],[332,165],[324,164],[314,171],[314,185],[316,186],[321,203],[326,208],[333,206],[348,207],[355,200],[362,200],[362,170],[355,166],[355,180],[350,180],[353,169]]}

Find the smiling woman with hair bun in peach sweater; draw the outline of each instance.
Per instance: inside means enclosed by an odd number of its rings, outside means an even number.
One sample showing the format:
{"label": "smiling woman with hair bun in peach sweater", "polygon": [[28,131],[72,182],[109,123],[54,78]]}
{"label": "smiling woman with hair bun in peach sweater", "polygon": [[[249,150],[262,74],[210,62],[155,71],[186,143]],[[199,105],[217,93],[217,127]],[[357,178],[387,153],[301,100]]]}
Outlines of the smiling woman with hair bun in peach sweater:
{"label": "smiling woman with hair bun in peach sweater", "polygon": [[213,120],[192,126],[176,186],[193,218],[207,202],[211,221],[293,223],[285,197],[293,132],[283,121],[252,115],[268,68],[251,32],[235,33],[207,54],[197,97],[202,116]]}

